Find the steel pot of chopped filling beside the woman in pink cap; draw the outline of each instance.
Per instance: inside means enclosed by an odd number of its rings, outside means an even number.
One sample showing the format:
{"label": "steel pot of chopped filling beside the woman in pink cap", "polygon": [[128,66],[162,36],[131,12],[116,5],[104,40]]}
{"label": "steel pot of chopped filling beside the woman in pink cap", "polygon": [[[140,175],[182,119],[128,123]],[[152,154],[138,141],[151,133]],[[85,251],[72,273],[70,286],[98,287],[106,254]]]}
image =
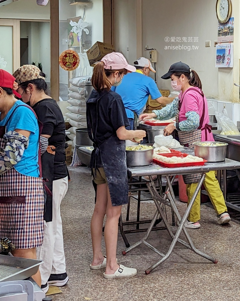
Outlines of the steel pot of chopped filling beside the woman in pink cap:
{"label": "steel pot of chopped filling beside the woman in pink cap", "polygon": [[147,166],[152,164],[154,148],[143,151],[126,151],[127,166]]}

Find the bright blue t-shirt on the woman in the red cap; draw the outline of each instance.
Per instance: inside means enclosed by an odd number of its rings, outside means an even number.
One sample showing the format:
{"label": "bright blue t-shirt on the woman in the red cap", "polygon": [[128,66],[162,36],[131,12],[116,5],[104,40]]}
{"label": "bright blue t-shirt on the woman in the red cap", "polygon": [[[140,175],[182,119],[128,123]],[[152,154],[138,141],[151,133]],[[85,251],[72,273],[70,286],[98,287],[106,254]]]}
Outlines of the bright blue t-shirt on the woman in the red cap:
{"label": "bright blue t-shirt on the woman in the red cap", "polygon": [[[20,107],[19,107],[20,106]],[[18,107],[11,116],[13,110]],[[0,113],[1,114],[1,113]],[[8,120],[8,123],[6,124]],[[21,129],[29,131],[29,145],[24,151],[21,161],[19,161],[14,168],[22,175],[30,177],[39,177],[38,166],[38,146],[39,146],[39,127],[38,121],[34,113],[27,107],[23,106],[23,102],[18,100],[13,105],[11,110],[7,113],[5,118],[0,121],[0,126],[6,125],[6,131],[14,131],[15,129]]]}

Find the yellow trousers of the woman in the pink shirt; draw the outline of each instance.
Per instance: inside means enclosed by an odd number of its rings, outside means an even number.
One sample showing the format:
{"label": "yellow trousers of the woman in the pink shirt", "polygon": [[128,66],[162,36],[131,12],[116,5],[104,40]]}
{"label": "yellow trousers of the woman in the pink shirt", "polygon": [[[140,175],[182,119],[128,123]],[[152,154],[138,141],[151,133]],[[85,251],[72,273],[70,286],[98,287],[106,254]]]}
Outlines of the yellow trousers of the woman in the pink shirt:
{"label": "yellow trousers of the woman in the pink shirt", "polygon": [[[218,215],[222,214],[223,212],[227,212],[227,207],[225,204],[225,200],[223,197],[223,193],[220,189],[220,185],[215,177],[215,172],[210,171],[206,173],[206,178],[205,181],[203,182],[204,187],[208,193],[208,196],[213,204],[213,207],[215,211],[217,212]],[[198,183],[193,183],[193,184],[187,184],[186,186],[186,192],[187,192],[187,197],[188,197],[188,202],[187,206],[190,203],[190,200],[193,197],[193,194],[196,190]],[[201,191],[199,191],[195,202],[193,203],[193,207],[189,213],[188,220],[190,222],[198,222],[200,217],[200,194]]]}

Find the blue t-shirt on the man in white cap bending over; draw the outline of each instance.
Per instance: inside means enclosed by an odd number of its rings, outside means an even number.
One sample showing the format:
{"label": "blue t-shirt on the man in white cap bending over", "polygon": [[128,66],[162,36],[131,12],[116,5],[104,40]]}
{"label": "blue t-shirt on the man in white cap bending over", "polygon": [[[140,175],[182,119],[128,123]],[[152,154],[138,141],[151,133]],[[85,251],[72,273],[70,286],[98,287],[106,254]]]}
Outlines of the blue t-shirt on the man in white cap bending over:
{"label": "blue t-shirt on the man in white cap bending over", "polygon": [[134,118],[131,110],[138,115],[142,113],[149,95],[152,99],[162,96],[156,82],[151,77],[138,72],[123,76],[122,83],[117,87],[112,87],[112,90],[122,97],[128,118]]}

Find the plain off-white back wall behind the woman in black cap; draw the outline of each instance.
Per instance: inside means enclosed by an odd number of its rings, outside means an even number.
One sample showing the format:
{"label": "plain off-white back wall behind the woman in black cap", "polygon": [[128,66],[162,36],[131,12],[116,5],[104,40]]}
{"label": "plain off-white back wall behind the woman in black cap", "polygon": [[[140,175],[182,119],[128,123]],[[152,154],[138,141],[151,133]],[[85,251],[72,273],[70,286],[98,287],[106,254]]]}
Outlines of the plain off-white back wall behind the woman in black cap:
{"label": "plain off-white back wall behind the woman in black cap", "polygon": [[[186,5],[187,4],[187,5]],[[215,68],[214,40],[217,40],[216,0],[179,2],[142,0],[142,53],[149,57],[145,45],[158,52],[157,82],[159,88],[170,88],[170,81],[161,79],[170,65],[182,61],[196,70],[207,97],[218,97],[218,68]],[[165,37],[198,37],[199,42],[165,42]],[[205,48],[205,41],[211,47]],[[166,46],[199,46],[198,50],[165,50]]]}

